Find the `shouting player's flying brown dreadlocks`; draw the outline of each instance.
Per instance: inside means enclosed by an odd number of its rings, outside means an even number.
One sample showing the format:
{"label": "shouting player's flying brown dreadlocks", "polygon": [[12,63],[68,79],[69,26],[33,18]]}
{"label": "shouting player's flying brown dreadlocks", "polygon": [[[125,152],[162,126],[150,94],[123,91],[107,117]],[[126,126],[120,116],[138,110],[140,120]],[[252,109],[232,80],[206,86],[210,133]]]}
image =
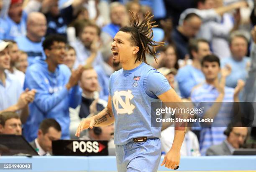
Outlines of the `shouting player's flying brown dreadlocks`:
{"label": "shouting player's flying brown dreadlocks", "polygon": [[163,46],[164,42],[153,40],[154,33],[152,28],[158,26],[153,25],[155,22],[150,21],[154,15],[150,16],[151,13],[146,12],[144,20],[139,22],[138,13],[134,15],[133,12],[129,12],[131,15],[130,26],[122,27],[119,31],[131,33],[132,45],[139,47],[135,63],[137,60],[147,63],[146,53],[152,55],[156,61],[156,47]]}

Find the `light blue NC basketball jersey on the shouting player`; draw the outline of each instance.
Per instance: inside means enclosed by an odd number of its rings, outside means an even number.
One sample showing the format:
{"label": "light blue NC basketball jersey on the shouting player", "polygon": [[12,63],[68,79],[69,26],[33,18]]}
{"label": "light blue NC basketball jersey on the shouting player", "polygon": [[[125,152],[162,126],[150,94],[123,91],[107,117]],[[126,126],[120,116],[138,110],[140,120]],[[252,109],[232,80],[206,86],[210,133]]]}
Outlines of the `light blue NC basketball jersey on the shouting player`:
{"label": "light blue NC basketball jersey on the shouting player", "polygon": [[[145,80],[147,85],[155,85],[149,89],[155,96],[148,95]],[[121,69],[110,76],[115,145],[125,145],[133,137],[161,136],[161,127],[151,127],[151,102],[161,102],[157,96],[169,89],[166,78],[146,63],[133,70]]]}

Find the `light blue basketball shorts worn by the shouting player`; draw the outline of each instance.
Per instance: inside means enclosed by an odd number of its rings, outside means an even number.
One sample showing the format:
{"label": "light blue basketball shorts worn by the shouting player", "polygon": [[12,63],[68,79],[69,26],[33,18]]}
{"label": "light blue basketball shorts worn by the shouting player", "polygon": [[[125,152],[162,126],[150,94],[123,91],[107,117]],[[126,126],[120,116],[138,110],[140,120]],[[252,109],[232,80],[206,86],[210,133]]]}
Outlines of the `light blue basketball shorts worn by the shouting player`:
{"label": "light blue basketball shorts worn by the shouting player", "polygon": [[115,145],[118,172],[156,172],[161,159],[159,138]]}

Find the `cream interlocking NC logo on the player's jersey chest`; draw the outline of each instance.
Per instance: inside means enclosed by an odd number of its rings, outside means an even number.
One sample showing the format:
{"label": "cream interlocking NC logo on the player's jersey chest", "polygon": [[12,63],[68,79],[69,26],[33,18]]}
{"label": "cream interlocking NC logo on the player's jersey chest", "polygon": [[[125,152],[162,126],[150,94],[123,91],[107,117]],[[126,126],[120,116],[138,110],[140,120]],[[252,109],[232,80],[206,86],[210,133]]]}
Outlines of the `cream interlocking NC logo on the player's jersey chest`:
{"label": "cream interlocking NC logo on the player's jersey chest", "polygon": [[[125,96],[125,102],[123,101],[121,96]],[[133,109],[135,108],[135,106],[130,102],[133,97],[134,96],[132,95],[131,90],[119,92],[115,91],[112,100],[117,114],[128,113],[128,115],[130,115],[131,113],[133,113]],[[119,103],[122,108],[119,108]]]}

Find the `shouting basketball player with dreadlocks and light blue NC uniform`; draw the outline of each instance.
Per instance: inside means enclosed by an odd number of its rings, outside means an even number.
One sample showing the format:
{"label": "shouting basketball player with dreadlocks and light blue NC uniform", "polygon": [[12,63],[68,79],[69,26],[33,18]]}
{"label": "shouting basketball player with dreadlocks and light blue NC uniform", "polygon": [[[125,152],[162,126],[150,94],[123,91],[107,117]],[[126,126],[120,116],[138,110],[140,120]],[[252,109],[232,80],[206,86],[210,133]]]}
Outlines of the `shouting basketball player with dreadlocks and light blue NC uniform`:
{"label": "shouting basketball player with dreadlocks and light blue NC uniform", "polygon": [[[131,12],[131,27],[122,27],[112,43],[113,60],[122,69],[110,76],[108,106],[97,115],[83,120],[76,136],[93,126],[115,122],[118,172],[156,172],[161,158],[161,127],[151,127],[151,102],[182,102],[166,78],[147,65],[146,53],[155,55],[163,42],[152,40],[153,16],[148,12],[139,23]],[[152,49],[151,49],[152,48]],[[161,165],[177,169],[185,127],[175,128],[172,148]]]}

